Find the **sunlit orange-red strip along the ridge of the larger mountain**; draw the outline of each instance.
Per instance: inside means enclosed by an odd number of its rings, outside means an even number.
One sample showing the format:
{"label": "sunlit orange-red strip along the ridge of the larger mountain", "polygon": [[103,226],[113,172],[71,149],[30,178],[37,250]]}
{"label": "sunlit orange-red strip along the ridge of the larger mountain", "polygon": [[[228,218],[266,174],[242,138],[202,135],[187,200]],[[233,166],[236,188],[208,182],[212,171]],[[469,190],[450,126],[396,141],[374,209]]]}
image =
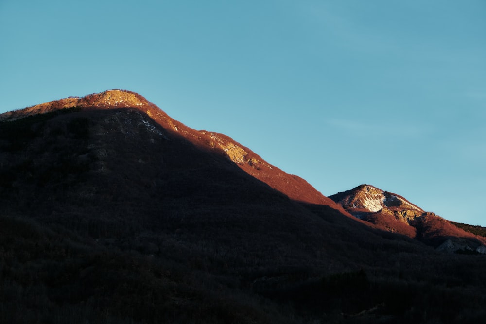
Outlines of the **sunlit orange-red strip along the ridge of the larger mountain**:
{"label": "sunlit orange-red strip along the ridge of the larger mountain", "polygon": [[178,134],[199,147],[225,154],[243,171],[284,193],[289,198],[309,204],[328,205],[350,216],[341,205],[322,195],[304,179],[287,174],[268,164],[258,154],[226,135],[197,131],[187,127],[183,123],[172,119],[155,104],[148,102],[144,97],[134,92],[108,90],[82,98],[70,97],[46,102],[22,110],[4,113],[0,115],[0,121],[20,119],[30,115],[73,107],[85,109],[137,108],[171,133]]}

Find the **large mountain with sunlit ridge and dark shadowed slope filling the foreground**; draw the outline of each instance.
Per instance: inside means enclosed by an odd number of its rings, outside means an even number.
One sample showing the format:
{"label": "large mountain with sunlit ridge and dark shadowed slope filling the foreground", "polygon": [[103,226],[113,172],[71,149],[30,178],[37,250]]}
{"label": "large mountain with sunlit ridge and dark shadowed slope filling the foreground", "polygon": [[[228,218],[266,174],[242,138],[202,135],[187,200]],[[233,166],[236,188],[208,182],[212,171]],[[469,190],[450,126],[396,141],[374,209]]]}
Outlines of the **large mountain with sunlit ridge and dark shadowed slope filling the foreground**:
{"label": "large mountain with sunlit ridge and dark shadowed slope filling the foreground", "polygon": [[108,91],[0,115],[0,323],[479,323],[484,256],[376,229]]}

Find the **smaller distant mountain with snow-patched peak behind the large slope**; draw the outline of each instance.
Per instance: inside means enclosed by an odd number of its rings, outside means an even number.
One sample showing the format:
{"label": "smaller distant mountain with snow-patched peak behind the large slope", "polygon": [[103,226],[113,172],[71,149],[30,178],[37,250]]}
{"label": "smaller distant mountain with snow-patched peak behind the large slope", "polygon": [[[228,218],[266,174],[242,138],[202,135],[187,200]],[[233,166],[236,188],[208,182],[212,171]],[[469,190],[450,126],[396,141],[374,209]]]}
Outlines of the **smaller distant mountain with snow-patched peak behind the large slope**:
{"label": "smaller distant mountain with snow-patched peak behind the large slope", "polygon": [[439,250],[486,251],[484,236],[474,235],[432,212],[425,212],[395,193],[364,184],[329,198],[361,220],[418,239]]}

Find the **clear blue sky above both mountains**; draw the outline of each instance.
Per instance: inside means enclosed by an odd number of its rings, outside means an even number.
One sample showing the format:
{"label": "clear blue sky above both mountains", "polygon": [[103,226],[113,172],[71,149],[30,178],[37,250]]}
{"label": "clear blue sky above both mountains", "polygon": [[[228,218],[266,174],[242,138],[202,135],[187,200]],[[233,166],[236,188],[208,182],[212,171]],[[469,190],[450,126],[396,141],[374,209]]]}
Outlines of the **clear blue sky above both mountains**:
{"label": "clear blue sky above both mountains", "polygon": [[484,0],[0,0],[0,112],[113,88],[486,226]]}

